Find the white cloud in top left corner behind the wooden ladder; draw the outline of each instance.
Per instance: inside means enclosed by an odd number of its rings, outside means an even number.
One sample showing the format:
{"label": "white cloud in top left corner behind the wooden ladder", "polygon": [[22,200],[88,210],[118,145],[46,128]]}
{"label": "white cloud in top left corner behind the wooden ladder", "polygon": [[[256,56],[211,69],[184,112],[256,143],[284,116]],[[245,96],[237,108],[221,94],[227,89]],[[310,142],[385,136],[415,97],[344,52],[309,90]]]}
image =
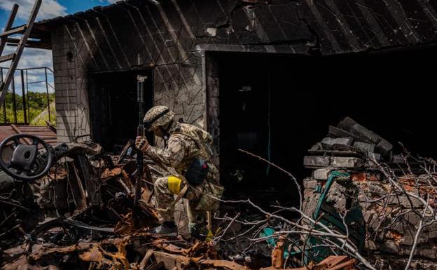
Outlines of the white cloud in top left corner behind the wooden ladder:
{"label": "white cloud in top left corner behind the wooden ladder", "polygon": [[[0,8],[11,11],[13,4],[20,5],[18,8],[18,18],[27,20],[34,6],[34,0],[0,0]],[[43,0],[36,20],[54,18],[67,15],[67,8],[59,4],[56,0]]]}

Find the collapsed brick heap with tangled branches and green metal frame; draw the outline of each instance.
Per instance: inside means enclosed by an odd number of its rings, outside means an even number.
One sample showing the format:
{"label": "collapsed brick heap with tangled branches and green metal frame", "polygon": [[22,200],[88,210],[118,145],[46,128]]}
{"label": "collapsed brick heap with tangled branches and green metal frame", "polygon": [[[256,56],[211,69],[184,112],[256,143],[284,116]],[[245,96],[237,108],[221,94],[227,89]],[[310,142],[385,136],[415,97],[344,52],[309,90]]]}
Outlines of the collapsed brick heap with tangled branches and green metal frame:
{"label": "collapsed brick heap with tangled branches and green metal frame", "polygon": [[377,268],[433,269],[435,161],[394,154],[391,143],[350,118],[308,152],[307,215],[317,212],[314,219],[353,234]]}

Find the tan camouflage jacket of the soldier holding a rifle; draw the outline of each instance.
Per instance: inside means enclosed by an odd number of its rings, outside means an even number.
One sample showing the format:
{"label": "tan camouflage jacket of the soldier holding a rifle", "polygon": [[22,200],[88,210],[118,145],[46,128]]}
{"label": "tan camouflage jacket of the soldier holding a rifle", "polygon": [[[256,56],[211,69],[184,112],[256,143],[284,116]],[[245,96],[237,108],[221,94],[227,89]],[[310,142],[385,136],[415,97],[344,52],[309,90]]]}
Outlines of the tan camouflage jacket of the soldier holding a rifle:
{"label": "tan camouflage jacket of the soldier holding a rifle", "polygon": [[207,161],[209,173],[207,180],[218,183],[219,170],[211,162],[212,152],[209,146],[212,136],[201,128],[186,123],[172,123],[169,129],[167,147],[148,147],[145,154],[153,161],[174,168],[183,175],[195,158]]}

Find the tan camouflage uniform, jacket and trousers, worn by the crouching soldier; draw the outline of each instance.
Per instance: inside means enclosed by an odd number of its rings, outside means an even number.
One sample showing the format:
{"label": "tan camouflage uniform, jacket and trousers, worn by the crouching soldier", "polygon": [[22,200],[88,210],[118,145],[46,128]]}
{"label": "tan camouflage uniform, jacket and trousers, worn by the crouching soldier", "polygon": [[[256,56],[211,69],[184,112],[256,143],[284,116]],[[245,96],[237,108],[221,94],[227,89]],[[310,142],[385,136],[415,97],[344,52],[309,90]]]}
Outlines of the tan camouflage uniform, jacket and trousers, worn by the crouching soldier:
{"label": "tan camouflage uniform, jacket and trousers, worn by the crouching soldier", "polygon": [[[219,185],[219,170],[210,161],[211,154],[205,145],[210,145],[212,137],[206,131],[186,123],[173,122],[169,128],[169,139],[165,149],[148,147],[144,152],[153,161],[164,166],[174,168],[177,173],[184,175],[195,158],[202,158],[207,161],[209,172],[201,184],[196,187],[189,187],[186,193],[188,199],[188,222],[190,226],[202,222],[206,210],[214,211],[218,208],[218,201],[210,196],[220,196],[214,192],[214,187]],[[185,183],[183,183],[185,184]],[[181,185],[181,189],[183,188]],[[214,184],[214,185],[211,185]],[[222,190],[223,191],[223,190]],[[169,190],[168,177],[160,177],[155,181],[155,196],[158,201],[158,208],[166,209],[174,201],[174,194]],[[165,221],[174,220],[174,208],[167,211],[160,211]]]}

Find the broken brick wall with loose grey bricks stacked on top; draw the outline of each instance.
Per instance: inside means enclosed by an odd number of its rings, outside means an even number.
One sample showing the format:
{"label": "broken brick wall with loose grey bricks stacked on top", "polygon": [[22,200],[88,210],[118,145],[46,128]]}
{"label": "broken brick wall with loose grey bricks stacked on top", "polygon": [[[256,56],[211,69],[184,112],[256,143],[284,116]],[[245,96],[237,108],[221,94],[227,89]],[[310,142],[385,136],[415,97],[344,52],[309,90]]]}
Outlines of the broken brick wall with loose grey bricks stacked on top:
{"label": "broken brick wall with loose grey bricks stacked on top", "polygon": [[[404,162],[392,153],[392,145],[350,118],[338,127],[329,127],[328,137],[309,150],[304,164],[312,168],[312,176],[304,181],[303,210],[312,215],[333,170],[349,173],[348,180],[333,182],[326,196],[326,204],[343,214],[351,205],[359,205],[365,224],[366,255],[381,269],[403,269],[412,249],[417,227],[424,208],[417,198],[395,192],[382,173],[368,162],[374,155],[385,163]],[[396,177],[405,191],[412,194],[435,194],[429,185],[435,175],[416,174]],[[426,196],[425,196],[426,197]],[[435,208],[437,203],[431,201]],[[434,205],[436,204],[436,205]],[[429,222],[433,217],[426,217]],[[426,226],[419,236],[415,259],[410,269],[437,269],[437,222]]]}

